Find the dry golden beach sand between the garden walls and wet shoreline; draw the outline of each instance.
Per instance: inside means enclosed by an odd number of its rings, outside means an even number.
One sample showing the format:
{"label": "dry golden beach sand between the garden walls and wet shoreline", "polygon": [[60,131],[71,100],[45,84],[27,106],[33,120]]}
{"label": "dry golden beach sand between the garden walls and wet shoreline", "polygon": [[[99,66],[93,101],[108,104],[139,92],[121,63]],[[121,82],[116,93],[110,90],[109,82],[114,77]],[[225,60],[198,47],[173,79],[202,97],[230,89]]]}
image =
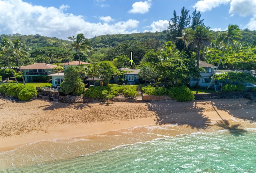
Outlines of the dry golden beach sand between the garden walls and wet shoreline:
{"label": "dry golden beach sand between the garden walls and wet shoreline", "polygon": [[[13,150],[36,141],[84,137],[134,126],[183,124],[185,129],[189,127],[196,132],[198,129],[211,128],[213,120],[221,120],[222,125],[225,120],[232,118],[254,123],[256,104],[248,104],[249,101],[212,99],[68,104],[44,100],[10,102],[1,99],[0,150]],[[200,125],[195,122],[200,122]],[[172,136],[177,134],[174,132]]]}

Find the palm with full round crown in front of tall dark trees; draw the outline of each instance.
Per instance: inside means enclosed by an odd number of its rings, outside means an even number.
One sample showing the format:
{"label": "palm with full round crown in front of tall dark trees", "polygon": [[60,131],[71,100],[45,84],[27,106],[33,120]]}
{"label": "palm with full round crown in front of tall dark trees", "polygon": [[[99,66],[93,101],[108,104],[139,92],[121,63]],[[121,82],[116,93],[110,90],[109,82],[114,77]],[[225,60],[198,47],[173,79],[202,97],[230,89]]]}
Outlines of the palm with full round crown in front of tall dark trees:
{"label": "palm with full round crown in front of tall dark trees", "polygon": [[[204,47],[211,46],[214,38],[213,34],[211,33],[212,30],[209,29],[210,27],[198,25],[195,27],[195,30],[190,29],[188,31],[187,44],[191,44],[191,48],[193,49],[197,47],[197,67],[199,67],[200,50]],[[197,85],[199,85],[199,78],[197,79]]]}

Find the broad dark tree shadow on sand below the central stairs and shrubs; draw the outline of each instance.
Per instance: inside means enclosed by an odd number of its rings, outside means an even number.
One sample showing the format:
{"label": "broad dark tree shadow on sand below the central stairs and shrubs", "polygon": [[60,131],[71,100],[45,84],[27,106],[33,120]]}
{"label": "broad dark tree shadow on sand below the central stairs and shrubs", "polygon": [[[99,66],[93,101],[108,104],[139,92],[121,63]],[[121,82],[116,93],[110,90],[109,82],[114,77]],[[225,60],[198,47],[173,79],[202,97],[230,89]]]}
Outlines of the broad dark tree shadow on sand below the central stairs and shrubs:
{"label": "broad dark tree shadow on sand below the central stairs and shrubs", "polygon": [[155,124],[178,124],[191,127],[192,129],[208,129],[212,126],[211,120],[202,112],[204,108],[198,108],[196,101],[186,102],[186,105],[174,104],[173,102],[150,102],[146,103],[148,109],[156,113]]}

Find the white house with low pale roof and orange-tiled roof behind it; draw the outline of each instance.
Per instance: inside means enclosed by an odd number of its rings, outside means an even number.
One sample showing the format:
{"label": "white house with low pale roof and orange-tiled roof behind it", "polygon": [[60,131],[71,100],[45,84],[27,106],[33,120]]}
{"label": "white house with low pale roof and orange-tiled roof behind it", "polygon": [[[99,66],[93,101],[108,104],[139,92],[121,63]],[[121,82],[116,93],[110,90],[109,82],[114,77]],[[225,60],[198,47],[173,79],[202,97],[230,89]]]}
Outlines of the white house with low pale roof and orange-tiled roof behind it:
{"label": "white house with low pale roof and orange-tiled roof behind it", "polygon": [[[60,86],[60,84],[63,82],[63,79],[64,79],[65,68],[72,65],[78,65],[78,63],[79,61],[68,61],[68,62],[62,63],[60,65],[63,66],[63,71],[57,70],[57,71],[48,73],[48,76],[52,77],[52,86]],[[88,65],[90,63],[80,61],[80,64]]]}

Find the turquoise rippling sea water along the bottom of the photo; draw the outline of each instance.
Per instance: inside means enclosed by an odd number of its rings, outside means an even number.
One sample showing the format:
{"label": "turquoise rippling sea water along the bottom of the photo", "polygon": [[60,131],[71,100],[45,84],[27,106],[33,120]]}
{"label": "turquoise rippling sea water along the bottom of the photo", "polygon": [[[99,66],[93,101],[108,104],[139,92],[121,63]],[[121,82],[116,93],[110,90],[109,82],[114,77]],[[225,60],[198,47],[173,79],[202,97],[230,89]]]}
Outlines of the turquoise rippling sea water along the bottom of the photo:
{"label": "turquoise rippling sea water along the bottom of the photo", "polygon": [[192,133],[1,172],[256,172],[255,136],[255,129],[246,128]]}

